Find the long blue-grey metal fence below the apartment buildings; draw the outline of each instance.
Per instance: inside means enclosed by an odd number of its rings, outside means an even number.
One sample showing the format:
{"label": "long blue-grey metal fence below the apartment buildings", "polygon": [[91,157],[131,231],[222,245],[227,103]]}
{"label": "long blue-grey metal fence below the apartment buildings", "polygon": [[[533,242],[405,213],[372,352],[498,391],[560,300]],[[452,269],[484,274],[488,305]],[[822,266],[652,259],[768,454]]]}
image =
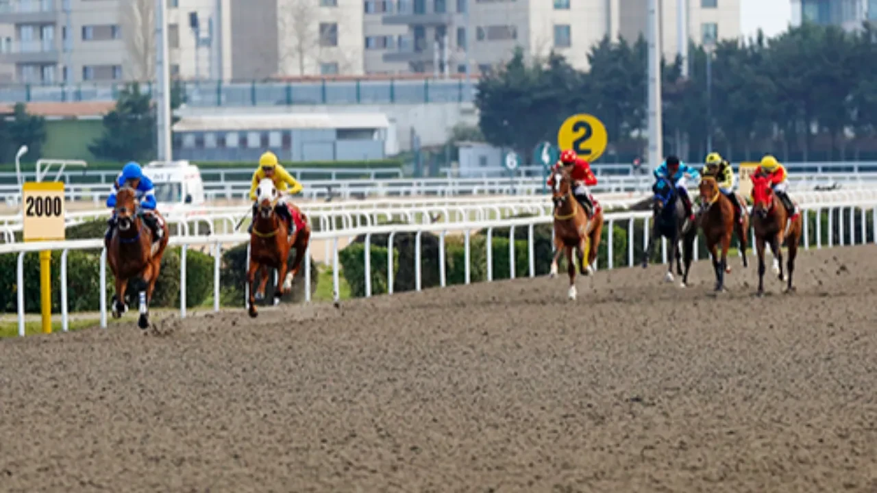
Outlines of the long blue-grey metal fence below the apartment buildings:
{"label": "long blue-grey metal fence below the apartment buildings", "polygon": [[[181,82],[188,106],[288,106],[293,104],[427,104],[474,100],[473,86],[453,79],[331,80],[315,82]],[[151,93],[153,84],[143,85]],[[124,83],[74,85],[10,84],[0,87],[4,103],[115,101]]]}

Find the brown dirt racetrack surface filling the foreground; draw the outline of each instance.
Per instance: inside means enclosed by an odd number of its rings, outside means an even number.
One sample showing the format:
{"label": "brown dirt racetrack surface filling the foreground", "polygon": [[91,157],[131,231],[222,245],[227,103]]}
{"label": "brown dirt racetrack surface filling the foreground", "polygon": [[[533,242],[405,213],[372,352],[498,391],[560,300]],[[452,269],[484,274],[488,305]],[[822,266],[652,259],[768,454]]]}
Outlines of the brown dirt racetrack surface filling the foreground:
{"label": "brown dirt racetrack surface filling the foreground", "polygon": [[3,340],[0,490],[877,491],[875,256]]}

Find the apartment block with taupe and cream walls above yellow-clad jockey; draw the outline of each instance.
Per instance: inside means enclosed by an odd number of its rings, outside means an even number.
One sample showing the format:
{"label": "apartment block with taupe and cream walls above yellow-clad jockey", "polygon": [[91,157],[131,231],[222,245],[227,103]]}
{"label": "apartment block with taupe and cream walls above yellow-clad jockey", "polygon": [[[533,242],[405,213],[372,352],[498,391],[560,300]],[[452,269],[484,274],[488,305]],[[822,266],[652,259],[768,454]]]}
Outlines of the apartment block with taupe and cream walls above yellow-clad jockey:
{"label": "apartment block with taupe and cream walls above yellow-clad jockey", "polygon": [[362,0],[225,0],[231,77],[363,74]]}

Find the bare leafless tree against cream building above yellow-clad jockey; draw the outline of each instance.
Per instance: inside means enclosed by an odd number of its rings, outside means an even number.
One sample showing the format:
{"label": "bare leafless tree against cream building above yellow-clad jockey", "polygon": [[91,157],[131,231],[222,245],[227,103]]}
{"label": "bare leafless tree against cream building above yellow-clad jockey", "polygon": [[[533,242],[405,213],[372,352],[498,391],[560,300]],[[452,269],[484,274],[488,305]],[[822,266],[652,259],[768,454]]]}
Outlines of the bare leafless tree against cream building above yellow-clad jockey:
{"label": "bare leafless tree against cream building above yellow-clad jockey", "polygon": [[289,65],[298,66],[305,75],[308,66],[320,56],[320,32],[316,0],[281,0],[278,2],[277,38],[280,40],[278,69],[289,74]]}

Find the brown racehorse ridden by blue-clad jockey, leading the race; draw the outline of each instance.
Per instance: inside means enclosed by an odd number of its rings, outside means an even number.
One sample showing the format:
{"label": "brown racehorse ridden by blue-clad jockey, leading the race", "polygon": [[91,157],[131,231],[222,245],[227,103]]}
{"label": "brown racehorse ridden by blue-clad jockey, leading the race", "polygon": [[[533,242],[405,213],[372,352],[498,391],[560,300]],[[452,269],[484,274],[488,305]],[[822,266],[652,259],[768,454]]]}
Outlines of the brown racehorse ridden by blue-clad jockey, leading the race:
{"label": "brown racehorse ridden by blue-clad jockey, leading the race", "polygon": [[124,186],[116,192],[116,228],[110,239],[104,241],[107,261],[113,276],[116,277],[116,294],[112,297],[112,316],[119,318],[128,310],[125,304],[125,289],[128,280],[139,278],[146,284],[146,290],[139,289],[140,317],[137,325],[141,329],[149,326],[149,302],[153,299],[155,282],[159,278],[161,256],[168,247],[168,223],[158,211],[152,213],[159,219],[158,224],[164,236],[153,241],[153,232],[144,223],[139,211],[134,189]]}

